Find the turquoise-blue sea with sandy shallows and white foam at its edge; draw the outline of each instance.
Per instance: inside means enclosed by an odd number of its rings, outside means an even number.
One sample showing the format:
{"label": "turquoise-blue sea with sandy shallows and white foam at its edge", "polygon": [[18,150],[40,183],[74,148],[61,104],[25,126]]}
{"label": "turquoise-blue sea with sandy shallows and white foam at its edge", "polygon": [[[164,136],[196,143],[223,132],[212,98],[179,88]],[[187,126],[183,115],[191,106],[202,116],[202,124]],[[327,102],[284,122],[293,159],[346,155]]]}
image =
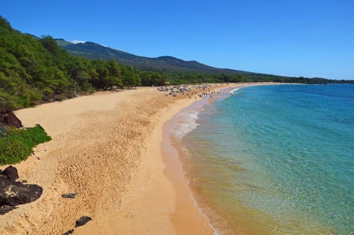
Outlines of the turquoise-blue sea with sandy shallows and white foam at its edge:
{"label": "turquoise-blue sea with sandy shallows and white foam at its edge", "polygon": [[217,234],[354,234],[354,85],[238,89],[171,133]]}

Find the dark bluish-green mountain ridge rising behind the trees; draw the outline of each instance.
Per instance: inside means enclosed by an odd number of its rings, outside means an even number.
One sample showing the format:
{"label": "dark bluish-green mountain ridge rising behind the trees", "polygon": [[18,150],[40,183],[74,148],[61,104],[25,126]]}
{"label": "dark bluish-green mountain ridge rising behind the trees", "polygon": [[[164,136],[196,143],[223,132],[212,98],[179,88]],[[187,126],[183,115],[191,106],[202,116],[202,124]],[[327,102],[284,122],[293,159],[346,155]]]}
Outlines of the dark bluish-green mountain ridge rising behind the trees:
{"label": "dark bluish-green mountain ridge rising behind the trees", "polygon": [[249,72],[217,69],[203,65],[196,61],[183,61],[172,56],[160,56],[150,58],[130,54],[121,50],[112,49],[94,42],[71,43],[64,39],[55,39],[58,45],[66,49],[70,54],[79,55],[89,59],[101,58],[107,61],[113,58],[117,63],[130,65],[141,70],[157,70],[167,73],[193,72],[193,73],[227,73],[227,74],[252,74]]}

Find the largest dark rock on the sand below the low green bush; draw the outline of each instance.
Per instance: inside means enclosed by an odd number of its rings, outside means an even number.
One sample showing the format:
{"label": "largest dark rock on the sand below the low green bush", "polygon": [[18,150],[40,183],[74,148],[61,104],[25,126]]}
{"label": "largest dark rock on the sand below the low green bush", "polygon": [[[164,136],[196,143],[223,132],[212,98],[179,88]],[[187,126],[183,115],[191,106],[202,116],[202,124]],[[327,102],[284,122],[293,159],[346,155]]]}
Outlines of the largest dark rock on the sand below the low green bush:
{"label": "largest dark rock on the sand below the low green bush", "polygon": [[24,185],[20,182],[0,178],[0,206],[17,206],[37,200],[43,189],[38,185]]}

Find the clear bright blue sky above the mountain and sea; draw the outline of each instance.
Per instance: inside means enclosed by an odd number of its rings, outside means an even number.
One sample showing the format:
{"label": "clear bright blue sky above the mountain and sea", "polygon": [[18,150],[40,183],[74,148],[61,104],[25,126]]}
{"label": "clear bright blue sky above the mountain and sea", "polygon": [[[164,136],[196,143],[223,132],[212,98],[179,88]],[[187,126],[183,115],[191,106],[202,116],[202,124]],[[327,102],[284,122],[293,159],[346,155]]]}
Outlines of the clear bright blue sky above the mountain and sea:
{"label": "clear bright blue sky above the mountain and sea", "polygon": [[354,0],[3,1],[36,36],[291,77],[354,79]]}

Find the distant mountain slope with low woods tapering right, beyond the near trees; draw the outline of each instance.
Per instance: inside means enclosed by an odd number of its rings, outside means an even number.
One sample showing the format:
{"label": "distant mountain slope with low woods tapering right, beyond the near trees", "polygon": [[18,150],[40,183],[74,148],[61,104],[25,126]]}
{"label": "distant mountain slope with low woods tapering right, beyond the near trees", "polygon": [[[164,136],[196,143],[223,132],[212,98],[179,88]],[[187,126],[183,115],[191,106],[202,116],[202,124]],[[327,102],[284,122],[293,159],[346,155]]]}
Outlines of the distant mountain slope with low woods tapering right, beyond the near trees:
{"label": "distant mountain slope with low woods tapering right, beyond the near trees", "polygon": [[218,69],[203,65],[196,61],[183,61],[172,56],[150,58],[138,56],[124,51],[112,49],[94,42],[73,44],[63,43],[63,39],[56,39],[58,44],[70,54],[89,58],[91,60],[114,60],[117,63],[132,66],[140,71],[153,71],[164,75],[172,84],[200,83],[200,82],[287,82],[306,84],[327,84],[338,82],[324,78],[284,77],[269,74],[259,74],[240,70]]}

